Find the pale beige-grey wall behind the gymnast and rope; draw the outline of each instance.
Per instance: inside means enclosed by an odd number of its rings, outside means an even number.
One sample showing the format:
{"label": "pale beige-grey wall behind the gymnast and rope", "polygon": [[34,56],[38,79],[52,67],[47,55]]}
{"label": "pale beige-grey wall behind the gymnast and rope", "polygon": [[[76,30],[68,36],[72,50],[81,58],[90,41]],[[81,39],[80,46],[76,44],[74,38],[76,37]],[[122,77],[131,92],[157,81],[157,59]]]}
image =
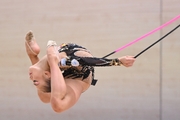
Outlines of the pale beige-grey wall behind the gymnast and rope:
{"label": "pale beige-grey wall behind the gymnast and rope", "polygon": [[[32,30],[40,56],[51,39],[81,44],[102,57],[178,15],[180,0],[1,0],[0,120],[179,120],[180,29],[131,68],[96,68],[97,85],[61,114],[38,99],[24,47]],[[179,23],[109,58],[136,55]]]}

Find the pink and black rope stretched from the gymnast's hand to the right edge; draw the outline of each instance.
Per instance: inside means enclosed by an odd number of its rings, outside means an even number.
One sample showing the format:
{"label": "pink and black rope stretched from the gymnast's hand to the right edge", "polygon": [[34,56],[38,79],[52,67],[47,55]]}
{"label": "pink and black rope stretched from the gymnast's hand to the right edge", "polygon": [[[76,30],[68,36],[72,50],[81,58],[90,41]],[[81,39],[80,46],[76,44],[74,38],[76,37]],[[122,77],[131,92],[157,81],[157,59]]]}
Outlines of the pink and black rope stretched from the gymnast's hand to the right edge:
{"label": "pink and black rope stretched from the gymnast's hand to the right edge", "polygon": [[[147,36],[149,36],[149,35],[151,35],[151,34],[153,34],[153,33],[155,33],[155,32],[157,32],[158,30],[161,30],[162,28],[164,28],[165,26],[167,26],[167,25],[171,24],[172,22],[178,20],[179,18],[180,18],[180,15],[177,16],[177,17],[175,17],[175,18],[173,18],[172,20],[168,21],[167,23],[161,25],[160,27],[158,27],[158,28],[156,28],[156,29],[154,29],[154,30],[146,33],[145,35],[143,35],[143,36],[141,36],[141,37],[133,40],[132,42],[130,42],[130,43],[128,43],[128,44],[126,44],[126,45],[118,48],[117,50],[115,50],[115,51],[113,51],[113,52],[111,52],[111,53],[109,53],[108,55],[104,56],[103,58],[106,58],[106,57],[108,57],[108,56],[110,56],[110,55],[112,55],[112,54],[114,54],[114,53],[117,53],[117,52],[125,49],[126,47],[128,47],[128,46],[130,46],[130,45],[132,45],[132,44],[134,44],[134,43],[142,40],[143,38],[145,38],[145,37],[147,37]],[[149,47],[147,47],[146,49],[144,49],[143,51],[141,51],[141,52],[140,52],[139,54],[137,54],[134,58],[137,58],[137,57],[138,57],[139,55],[141,55],[143,52],[145,52],[146,50],[148,50],[149,48],[151,48],[153,45],[155,45],[156,43],[158,43],[159,41],[161,41],[163,38],[165,38],[166,36],[168,36],[169,34],[171,34],[173,31],[175,31],[178,27],[180,27],[180,24],[179,24],[177,27],[175,27],[173,30],[171,30],[169,33],[167,33],[166,35],[164,35],[162,38],[160,38],[159,40],[157,40],[156,42],[154,42],[153,44],[151,44]]]}

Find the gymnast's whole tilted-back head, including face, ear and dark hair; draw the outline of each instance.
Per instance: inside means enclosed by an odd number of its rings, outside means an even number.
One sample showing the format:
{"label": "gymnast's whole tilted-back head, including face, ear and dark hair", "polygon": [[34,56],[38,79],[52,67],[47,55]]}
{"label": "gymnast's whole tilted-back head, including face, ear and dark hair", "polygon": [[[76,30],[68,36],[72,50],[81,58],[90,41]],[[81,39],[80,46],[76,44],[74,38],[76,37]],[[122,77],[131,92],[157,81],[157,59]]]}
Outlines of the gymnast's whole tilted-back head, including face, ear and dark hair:
{"label": "gymnast's whole tilted-back head, including face, ear and dark hair", "polygon": [[29,67],[29,76],[36,88],[43,92],[51,92],[51,73],[38,65]]}

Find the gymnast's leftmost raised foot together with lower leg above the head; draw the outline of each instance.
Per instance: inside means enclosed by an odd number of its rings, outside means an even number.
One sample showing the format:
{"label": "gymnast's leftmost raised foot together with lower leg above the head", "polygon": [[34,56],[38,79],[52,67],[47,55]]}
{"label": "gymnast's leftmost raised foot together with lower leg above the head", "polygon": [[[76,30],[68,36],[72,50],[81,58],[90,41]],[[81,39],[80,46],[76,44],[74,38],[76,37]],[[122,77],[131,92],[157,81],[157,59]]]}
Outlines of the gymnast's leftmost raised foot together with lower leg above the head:
{"label": "gymnast's leftmost raised foot together with lower leg above the head", "polygon": [[40,52],[40,47],[36,43],[35,37],[33,36],[33,33],[31,31],[26,34],[25,46],[27,55],[29,56],[32,65],[37,63],[39,61],[38,54]]}

